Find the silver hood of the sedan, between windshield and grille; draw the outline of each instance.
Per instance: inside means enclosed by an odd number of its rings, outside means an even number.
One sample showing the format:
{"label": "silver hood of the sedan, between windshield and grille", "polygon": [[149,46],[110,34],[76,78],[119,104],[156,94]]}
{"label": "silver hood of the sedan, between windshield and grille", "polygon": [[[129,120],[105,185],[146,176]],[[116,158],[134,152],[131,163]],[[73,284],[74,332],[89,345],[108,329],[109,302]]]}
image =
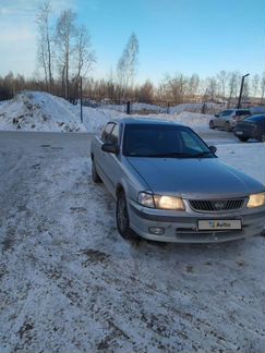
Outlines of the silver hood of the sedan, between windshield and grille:
{"label": "silver hood of the sedan, between windshield and grille", "polygon": [[264,191],[264,186],[220,162],[217,158],[128,157],[130,165],[157,194],[183,198],[241,197]]}

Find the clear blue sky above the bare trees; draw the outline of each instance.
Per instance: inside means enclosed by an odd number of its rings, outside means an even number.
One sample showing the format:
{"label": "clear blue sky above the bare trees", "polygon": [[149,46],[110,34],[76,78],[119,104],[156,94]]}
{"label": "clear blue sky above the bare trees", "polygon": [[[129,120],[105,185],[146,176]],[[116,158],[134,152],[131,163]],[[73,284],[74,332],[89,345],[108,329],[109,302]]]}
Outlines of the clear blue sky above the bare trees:
{"label": "clear blue sky above the bare trees", "polygon": [[[0,75],[32,76],[36,68],[39,0],[0,0]],[[134,32],[140,42],[137,81],[166,73],[206,77],[220,70],[265,71],[264,0],[50,0],[55,17],[77,13],[96,51],[94,77],[106,77]]]}

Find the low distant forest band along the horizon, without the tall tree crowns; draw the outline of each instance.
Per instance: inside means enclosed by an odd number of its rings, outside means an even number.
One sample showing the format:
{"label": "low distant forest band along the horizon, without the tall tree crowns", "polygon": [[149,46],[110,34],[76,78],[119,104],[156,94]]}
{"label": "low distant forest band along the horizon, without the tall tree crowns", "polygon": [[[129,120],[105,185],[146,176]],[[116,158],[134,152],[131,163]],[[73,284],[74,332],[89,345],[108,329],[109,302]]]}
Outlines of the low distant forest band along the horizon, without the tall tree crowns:
{"label": "low distant forest band along the horizon, without the tall tree crowns", "polygon": [[[67,76],[65,76],[67,77]],[[47,88],[49,82],[43,78],[25,78],[10,72],[4,77],[0,76],[0,99],[10,99],[22,89],[45,90],[68,99],[80,97],[80,87],[71,80],[69,84],[59,80],[52,81],[52,88]],[[181,73],[167,75],[158,85],[146,81],[142,85],[123,86],[112,75],[107,78],[95,80],[83,77],[83,96],[97,101],[141,101],[157,102],[168,101],[174,104],[194,101],[226,101],[230,106],[237,100],[242,75],[239,72],[227,73],[221,71],[213,77],[202,78],[198,74],[191,76]],[[77,81],[77,78],[75,78]],[[65,89],[68,95],[65,95]],[[243,100],[264,104],[265,74],[254,75],[244,82]]]}

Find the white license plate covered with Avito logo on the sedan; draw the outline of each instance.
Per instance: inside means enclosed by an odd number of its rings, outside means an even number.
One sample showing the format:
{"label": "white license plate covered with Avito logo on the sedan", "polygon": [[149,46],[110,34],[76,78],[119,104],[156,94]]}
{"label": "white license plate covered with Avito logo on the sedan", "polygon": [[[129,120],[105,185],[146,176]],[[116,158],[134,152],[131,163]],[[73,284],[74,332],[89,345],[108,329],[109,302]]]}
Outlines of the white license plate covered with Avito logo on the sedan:
{"label": "white license plate covered with Avito logo on the sedan", "polygon": [[240,219],[208,219],[197,221],[198,230],[240,230],[242,223]]}

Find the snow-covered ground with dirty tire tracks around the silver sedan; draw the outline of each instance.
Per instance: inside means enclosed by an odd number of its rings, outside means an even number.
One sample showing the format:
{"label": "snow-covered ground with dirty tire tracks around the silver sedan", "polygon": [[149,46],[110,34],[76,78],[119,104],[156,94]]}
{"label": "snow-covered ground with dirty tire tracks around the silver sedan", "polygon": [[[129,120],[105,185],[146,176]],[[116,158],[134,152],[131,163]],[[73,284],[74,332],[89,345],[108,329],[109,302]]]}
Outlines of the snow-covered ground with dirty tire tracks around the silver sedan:
{"label": "snow-covered ground with dirty tire tracks around the silver sedan", "polygon": [[[265,184],[264,144],[217,147]],[[265,239],[124,241],[88,155],[0,132],[0,352],[264,352]]]}

